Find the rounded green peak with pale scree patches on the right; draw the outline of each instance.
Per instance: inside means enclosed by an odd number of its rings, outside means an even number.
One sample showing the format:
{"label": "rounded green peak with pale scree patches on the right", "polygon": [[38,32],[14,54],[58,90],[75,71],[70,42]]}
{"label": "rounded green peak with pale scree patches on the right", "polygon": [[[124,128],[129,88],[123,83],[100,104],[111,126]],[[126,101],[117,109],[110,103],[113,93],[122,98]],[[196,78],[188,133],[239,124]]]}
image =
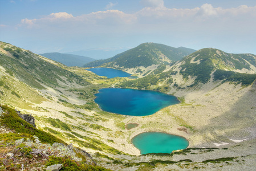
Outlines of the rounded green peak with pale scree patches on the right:
{"label": "rounded green peak with pale scree patches on the right", "polygon": [[206,83],[215,70],[223,70],[223,74],[226,71],[254,74],[255,60],[256,55],[252,54],[228,54],[215,48],[203,48],[180,61],[180,74],[184,79],[196,77],[195,83]]}

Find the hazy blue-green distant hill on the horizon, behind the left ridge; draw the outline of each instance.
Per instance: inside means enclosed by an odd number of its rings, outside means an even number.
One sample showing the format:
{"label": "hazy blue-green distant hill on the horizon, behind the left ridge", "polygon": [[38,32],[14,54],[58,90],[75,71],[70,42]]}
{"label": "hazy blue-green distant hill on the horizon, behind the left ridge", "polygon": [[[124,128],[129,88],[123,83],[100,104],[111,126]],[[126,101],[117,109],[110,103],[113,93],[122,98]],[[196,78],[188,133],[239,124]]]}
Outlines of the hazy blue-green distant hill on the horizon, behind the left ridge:
{"label": "hazy blue-green distant hill on the horizon, behind the left ridge", "polygon": [[73,55],[73,54],[61,54],[58,52],[44,53],[39,55],[49,58],[51,60],[60,62],[68,67],[74,67],[74,66],[82,67],[84,64],[95,60],[93,58],[89,58],[86,56],[79,56],[79,55]]}

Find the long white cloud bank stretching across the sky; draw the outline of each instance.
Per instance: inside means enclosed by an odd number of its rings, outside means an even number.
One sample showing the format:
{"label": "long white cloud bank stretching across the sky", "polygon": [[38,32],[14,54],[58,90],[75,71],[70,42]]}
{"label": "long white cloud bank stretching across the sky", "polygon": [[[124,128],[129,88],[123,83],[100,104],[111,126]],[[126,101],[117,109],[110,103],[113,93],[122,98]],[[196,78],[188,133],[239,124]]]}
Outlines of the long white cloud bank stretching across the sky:
{"label": "long white cloud bank stretching across the sky", "polygon": [[[223,29],[234,34],[247,34],[246,31],[256,28],[256,6],[222,9],[205,3],[194,9],[168,9],[163,1],[141,2],[148,2],[149,5],[132,14],[119,10],[96,11],[79,16],[65,12],[52,13],[42,18],[22,19],[21,26],[80,35],[218,32]],[[247,26],[244,24],[246,22]]]}

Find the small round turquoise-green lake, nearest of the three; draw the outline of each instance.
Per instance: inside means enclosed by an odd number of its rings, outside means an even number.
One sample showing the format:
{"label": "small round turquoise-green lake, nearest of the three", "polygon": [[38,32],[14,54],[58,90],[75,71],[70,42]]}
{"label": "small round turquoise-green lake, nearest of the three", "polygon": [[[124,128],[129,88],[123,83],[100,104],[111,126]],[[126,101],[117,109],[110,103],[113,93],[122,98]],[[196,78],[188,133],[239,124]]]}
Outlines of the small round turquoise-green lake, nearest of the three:
{"label": "small round turquoise-green lake, nearest of the three", "polygon": [[141,154],[171,153],[173,150],[185,149],[189,142],[184,137],[163,132],[144,132],[133,137],[133,145]]}

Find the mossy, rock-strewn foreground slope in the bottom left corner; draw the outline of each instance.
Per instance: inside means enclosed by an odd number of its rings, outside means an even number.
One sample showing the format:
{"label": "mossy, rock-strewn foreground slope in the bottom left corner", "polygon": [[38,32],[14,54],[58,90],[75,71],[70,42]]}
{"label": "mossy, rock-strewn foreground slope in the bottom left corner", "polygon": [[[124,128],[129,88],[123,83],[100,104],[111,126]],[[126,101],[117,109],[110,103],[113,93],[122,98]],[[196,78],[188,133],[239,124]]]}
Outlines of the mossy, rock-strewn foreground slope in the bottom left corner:
{"label": "mossy, rock-strewn foreground slope in the bottom left corner", "polygon": [[85,150],[33,128],[19,115],[22,114],[0,105],[1,169],[54,170],[58,164],[62,170],[108,170],[96,166]]}

